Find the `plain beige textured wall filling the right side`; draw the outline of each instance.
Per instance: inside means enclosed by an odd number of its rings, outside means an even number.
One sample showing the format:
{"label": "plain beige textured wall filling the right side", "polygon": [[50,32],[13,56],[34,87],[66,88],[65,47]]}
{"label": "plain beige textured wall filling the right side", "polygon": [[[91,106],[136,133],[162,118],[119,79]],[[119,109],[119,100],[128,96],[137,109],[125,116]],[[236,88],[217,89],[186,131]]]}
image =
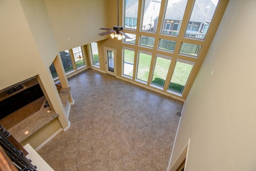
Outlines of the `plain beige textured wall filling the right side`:
{"label": "plain beige textured wall filling the right side", "polygon": [[170,165],[191,138],[187,171],[256,170],[255,7],[229,1],[186,99]]}

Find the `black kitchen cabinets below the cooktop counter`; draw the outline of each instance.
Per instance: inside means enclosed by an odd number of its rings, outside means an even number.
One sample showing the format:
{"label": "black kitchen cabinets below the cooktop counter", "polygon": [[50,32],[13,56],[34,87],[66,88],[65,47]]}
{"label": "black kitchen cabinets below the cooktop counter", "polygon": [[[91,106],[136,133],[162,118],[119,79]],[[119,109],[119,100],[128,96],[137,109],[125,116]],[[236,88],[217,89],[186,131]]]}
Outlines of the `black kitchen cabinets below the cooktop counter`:
{"label": "black kitchen cabinets below the cooktop counter", "polygon": [[39,84],[0,101],[0,119],[44,95]]}

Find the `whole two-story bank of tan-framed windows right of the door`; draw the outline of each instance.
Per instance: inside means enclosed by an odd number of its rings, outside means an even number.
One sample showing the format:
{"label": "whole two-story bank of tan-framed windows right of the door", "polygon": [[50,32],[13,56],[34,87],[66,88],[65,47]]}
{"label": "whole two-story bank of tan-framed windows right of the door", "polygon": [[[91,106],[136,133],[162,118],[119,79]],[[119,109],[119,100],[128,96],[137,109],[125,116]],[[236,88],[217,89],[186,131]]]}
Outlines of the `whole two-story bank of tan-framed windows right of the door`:
{"label": "whole two-story bank of tan-framed windows right of the door", "polygon": [[[125,38],[122,41],[123,46],[128,47],[123,48],[122,77],[186,99],[192,85],[186,85],[186,82],[194,81],[228,1],[124,0],[123,4],[123,25],[131,39]],[[215,15],[216,12],[218,14]],[[136,73],[126,72],[129,60],[135,60],[134,64],[129,64],[130,70]],[[192,61],[198,63],[193,70]],[[180,68],[185,69],[183,71]],[[179,79],[184,80],[176,82]],[[174,87],[178,84],[181,88]]]}

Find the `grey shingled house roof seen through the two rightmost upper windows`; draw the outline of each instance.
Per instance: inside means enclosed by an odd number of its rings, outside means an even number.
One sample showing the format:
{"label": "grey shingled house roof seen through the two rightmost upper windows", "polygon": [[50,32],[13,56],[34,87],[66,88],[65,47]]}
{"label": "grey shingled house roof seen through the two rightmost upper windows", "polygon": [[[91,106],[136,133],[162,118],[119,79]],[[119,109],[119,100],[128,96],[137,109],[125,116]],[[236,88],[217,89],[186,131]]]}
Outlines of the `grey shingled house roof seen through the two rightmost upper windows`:
{"label": "grey shingled house roof seen through the two rightmost upper windows", "polygon": [[[174,4],[174,6],[166,10],[166,19],[182,20],[183,13],[185,11],[187,0],[181,0]],[[216,6],[211,0],[196,0],[193,8],[193,12],[190,17],[190,21],[206,22],[211,21]]]}

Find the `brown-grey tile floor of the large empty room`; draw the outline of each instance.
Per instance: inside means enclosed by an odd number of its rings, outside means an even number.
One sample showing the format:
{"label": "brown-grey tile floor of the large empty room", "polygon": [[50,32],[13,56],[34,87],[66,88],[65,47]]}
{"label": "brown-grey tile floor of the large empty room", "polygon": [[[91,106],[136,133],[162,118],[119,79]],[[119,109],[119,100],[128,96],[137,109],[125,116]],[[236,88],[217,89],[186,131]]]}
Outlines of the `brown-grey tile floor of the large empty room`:
{"label": "brown-grey tile floor of the large empty room", "polygon": [[182,101],[92,69],[68,82],[70,129],[38,151],[55,171],[166,171]]}

